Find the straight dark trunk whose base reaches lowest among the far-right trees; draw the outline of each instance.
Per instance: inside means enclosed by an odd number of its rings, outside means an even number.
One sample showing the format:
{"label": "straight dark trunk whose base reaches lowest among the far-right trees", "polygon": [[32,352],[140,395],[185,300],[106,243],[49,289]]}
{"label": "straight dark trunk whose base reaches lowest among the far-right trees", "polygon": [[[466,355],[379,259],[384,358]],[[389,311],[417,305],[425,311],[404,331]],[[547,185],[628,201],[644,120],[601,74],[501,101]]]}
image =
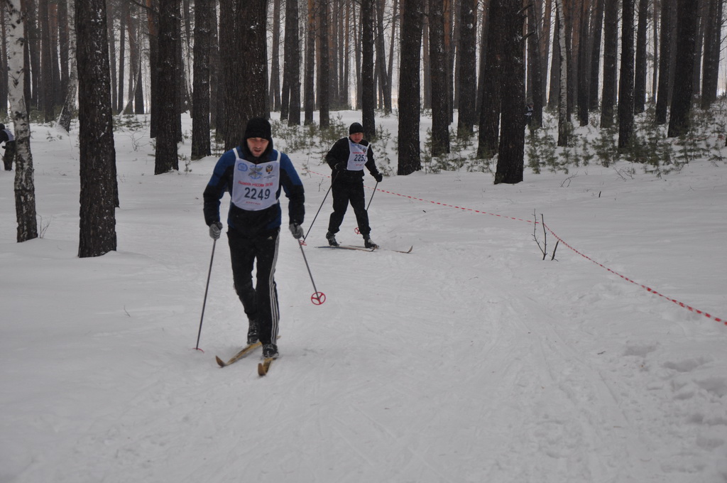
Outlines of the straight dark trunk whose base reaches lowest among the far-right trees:
{"label": "straight dark trunk whose base reaches lowest among the far-right trees", "polygon": [[619,149],[634,135],[634,1],[622,0],[621,70],[619,78]]}

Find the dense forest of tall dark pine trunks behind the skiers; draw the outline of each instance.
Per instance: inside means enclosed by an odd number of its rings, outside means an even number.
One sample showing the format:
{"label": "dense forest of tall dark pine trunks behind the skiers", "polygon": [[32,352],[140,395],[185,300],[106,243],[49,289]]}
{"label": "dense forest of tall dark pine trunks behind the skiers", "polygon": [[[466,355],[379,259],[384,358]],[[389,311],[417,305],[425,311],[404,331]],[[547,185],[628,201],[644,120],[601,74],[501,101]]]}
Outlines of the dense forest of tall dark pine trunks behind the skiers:
{"label": "dense forest of tall dark pine trunks behind the skiers", "polygon": [[[574,145],[574,127],[593,124],[617,129],[614,144],[630,153],[639,148],[636,115],[651,106],[651,124],[667,126],[666,137],[684,136],[693,109],[708,110],[724,89],[723,0],[6,4],[1,48],[9,76],[0,82],[0,102],[15,120],[17,171],[32,167],[18,119],[59,119],[70,129],[78,116],[79,129],[87,129],[82,175],[89,167],[89,179],[102,187],[81,193],[82,206],[100,209],[92,218],[111,218],[119,203],[108,133],[122,113],[150,115],[155,174],[179,169],[185,111],[193,118],[192,159],[212,154],[213,143],[233,147],[248,119],[270,111],[289,126],[324,131],[332,111],[353,108],[374,140],[377,115],[395,113],[397,174],[408,175],[422,169],[426,110],[432,128],[425,156],[446,158],[453,144],[473,140],[478,158],[496,156],[494,183],[519,183],[528,103],[531,140],[547,109],[558,119],[559,147]],[[12,32],[15,25],[22,35]],[[31,180],[18,178],[23,193],[16,199],[25,208]],[[104,208],[99,196],[108,198]],[[31,224],[32,212],[21,215]],[[19,239],[21,231],[32,235],[19,228]]]}

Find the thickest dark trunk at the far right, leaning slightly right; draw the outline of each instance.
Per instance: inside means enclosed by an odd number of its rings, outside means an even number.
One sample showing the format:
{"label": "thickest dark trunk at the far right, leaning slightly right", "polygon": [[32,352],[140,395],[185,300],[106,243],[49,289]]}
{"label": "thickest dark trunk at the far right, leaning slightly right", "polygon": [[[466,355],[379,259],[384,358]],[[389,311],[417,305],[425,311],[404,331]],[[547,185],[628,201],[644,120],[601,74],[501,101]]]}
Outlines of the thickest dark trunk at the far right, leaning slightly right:
{"label": "thickest dark trunk at the far right, leaning slightly right", "polygon": [[677,0],[677,60],[667,137],[678,137],[689,130],[697,13],[693,0]]}

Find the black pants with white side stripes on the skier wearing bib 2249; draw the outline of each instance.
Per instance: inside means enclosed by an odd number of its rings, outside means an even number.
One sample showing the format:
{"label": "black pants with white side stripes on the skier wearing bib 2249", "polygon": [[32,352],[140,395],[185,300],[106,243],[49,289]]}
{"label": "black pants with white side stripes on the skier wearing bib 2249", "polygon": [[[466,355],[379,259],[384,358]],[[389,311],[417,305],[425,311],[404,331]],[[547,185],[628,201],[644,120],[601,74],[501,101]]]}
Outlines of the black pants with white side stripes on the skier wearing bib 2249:
{"label": "black pants with white side stripes on the skier wearing bib 2249", "polygon": [[[278,261],[280,228],[257,236],[245,236],[230,228],[230,260],[237,292],[245,314],[257,324],[258,337],[263,344],[278,338],[278,290],[275,266]],[[257,265],[255,286],[252,285],[253,264]]]}

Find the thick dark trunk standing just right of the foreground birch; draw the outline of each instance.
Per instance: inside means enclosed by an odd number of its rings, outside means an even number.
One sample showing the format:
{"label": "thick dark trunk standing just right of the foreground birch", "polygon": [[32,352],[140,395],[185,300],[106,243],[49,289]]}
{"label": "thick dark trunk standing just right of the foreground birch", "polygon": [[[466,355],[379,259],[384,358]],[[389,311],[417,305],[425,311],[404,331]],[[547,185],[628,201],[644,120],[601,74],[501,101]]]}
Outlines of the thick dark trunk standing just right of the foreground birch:
{"label": "thick dark trunk standing just right of the foreground birch", "polygon": [[81,221],[79,257],[116,250],[116,151],[105,0],[76,0]]}

